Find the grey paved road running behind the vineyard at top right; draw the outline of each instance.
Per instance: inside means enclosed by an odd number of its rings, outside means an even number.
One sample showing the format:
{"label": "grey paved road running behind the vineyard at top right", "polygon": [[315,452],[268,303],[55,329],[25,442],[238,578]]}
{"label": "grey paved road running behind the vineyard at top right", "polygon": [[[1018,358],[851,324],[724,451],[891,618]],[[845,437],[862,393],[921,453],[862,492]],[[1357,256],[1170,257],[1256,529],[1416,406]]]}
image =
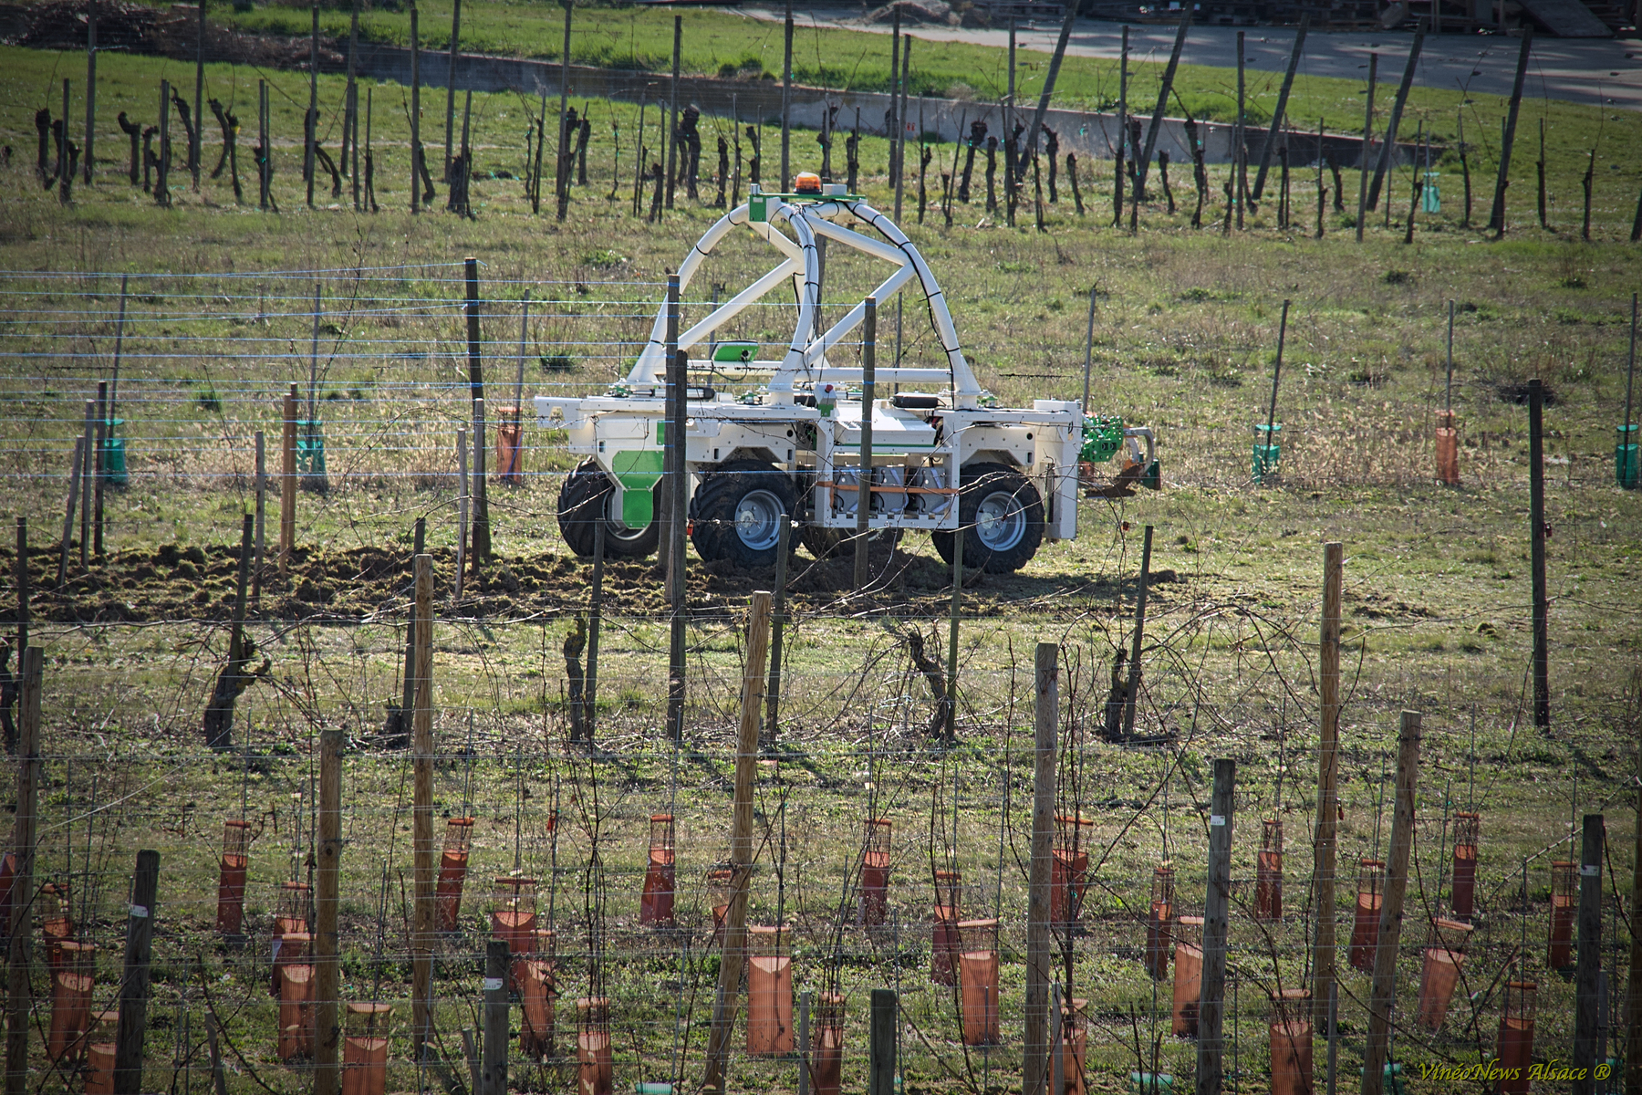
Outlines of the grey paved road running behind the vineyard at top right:
{"label": "grey paved road running behind the vineyard at top right", "polygon": [[[760,20],[780,20],[782,15],[762,8],[741,8],[744,15]],[[834,26],[842,30],[867,30],[890,33],[887,25],[867,25],[859,20],[859,8],[814,8],[800,15],[806,26]],[[1039,23],[1016,31],[1020,46],[1053,53],[1059,25]],[[977,46],[1008,46],[1008,31],[962,30],[956,26],[915,26],[913,34],[929,41],[964,41]],[[1067,53],[1079,57],[1117,59],[1121,31],[1117,23],[1079,20],[1072,30]],[[1333,76],[1343,79],[1368,77],[1368,54],[1381,54],[1379,80],[1399,80],[1402,59],[1409,54],[1412,33],[1337,33],[1312,31],[1305,36],[1305,56],[1300,71],[1309,76]],[[1281,71],[1289,62],[1294,31],[1284,26],[1246,28],[1245,51],[1248,64],[1256,69]],[[1167,61],[1174,46],[1172,26],[1131,26],[1130,56],[1136,59]],[[1420,87],[1448,87],[1509,95],[1516,76],[1520,41],[1504,34],[1438,34],[1425,39],[1415,84]],[[1182,61],[1213,67],[1236,67],[1236,30],[1230,26],[1194,26],[1186,38]],[[1529,61],[1525,94],[1545,99],[1566,99],[1580,103],[1609,103],[1627,110],[1642,110],[1642,43],[1622,39],[1550,38],[1535,36]]]}

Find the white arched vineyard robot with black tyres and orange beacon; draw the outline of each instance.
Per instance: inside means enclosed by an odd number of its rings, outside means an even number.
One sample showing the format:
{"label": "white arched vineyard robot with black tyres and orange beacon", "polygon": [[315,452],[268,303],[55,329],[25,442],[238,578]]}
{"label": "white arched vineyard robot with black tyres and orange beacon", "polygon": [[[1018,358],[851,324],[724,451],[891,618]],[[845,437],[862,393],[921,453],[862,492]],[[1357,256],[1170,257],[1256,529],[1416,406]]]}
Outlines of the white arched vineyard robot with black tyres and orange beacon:
{"label": "white arched vineyard robot with black tyres and orange beacon", "polygon": [[[768,273],[678,333],[678,350],[690,356],[688,522],[703,560],[772,565],[783,514],[816,557],[852,537],[864,414],[872,415],[869,530],[924,530],[947,563],[961,529],[964,565],[990,573],[1020,570],[1044,538],[1076,537],[1080,461],[1125,455],[1105,488],[1110,494],[1158,486],[1146,427],[1085,417],[1077,402],[1056,399],[1036,399],[1030,410],[993,405],[964,360],[934,274],[906,235],[842,186],[823,187],[800,174],[795,190],[760,194],[754,187],[747,204],[708,228],[678,269],[683,291],[736,228],[780,254]],[[877,368],[878,397],[870,409],[860,399],[862,369],[829,360],[860,325],[865,300],[821,327],[818,240],[890,268],[874,291],[880,307],[913,284],[944,358],[939,368]],[[759,360],[757,341],[721,340],[721,328],[783,284],[796,297],[796,323],[780,358]],[[558,525],[578,555],[593,553],[599,520],[608,557],[642,557],[657,547],[665,364],[663,300],[626,381],[603,396],[535,399],[537,424],[565,430],[570,451],[585,456],[558,496]],[[714,381],[742,381],[745,391],[714,391]]]}

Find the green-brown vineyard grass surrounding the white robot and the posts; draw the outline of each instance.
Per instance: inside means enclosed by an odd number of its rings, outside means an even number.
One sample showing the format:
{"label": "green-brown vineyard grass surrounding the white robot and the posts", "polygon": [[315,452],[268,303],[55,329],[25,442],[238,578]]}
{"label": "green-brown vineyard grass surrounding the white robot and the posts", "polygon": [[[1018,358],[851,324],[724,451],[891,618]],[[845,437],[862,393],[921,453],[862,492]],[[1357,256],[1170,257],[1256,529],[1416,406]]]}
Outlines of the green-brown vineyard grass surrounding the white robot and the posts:
{"label": "green-brown vineyard grass surrounding the white robot and the posts", "polygon": [[[253,8],[233,18],[291,30],[289,21],[307,16]],[[325,18],[333,26],[338,16]],[[578,59],[660,64],[663,13],[578,10],[576,18]],[[778,28],[714,11],[686,18],[688,69],[713,72],[744,57],[777,67],[770,49],[772,41],[778,49]],[[402,20],[373,13],[369,33],[392,38]],[[438,10],[424,8],[424,26],[440,20]],[[550,13],[539,20],[524,7],[486,5],[465,11],[463,23],[476,49],[553,56]],[[862,49],[867,57],[857,61]],[[811,61],[816,51],[826,64],[805,69],[803,79],[846,72],[852,87],[882,80],[882,38],[828,33],[816,38]],[[979,95],[993,94],[985,80],[995,77],[979,74],[993,72],[995,57],[934,44],[923,57],[931,90],[964,79]],[[488,880],[519,868],[555,880],[544,882],[540,913],[547,921],[552,908],[560,932],[560,1052],[573,1052],[575,996],[601,983],[612,998],[617,1087],[668,1077],[698,1084],[718,969],[703,873],[727,847],[741,614],[749,593],[768,588],[773,575],[726,573],[691,558],[688,734],[673,750],[660,731],[667,617],[658,578],[647,563],[612,565],[599,750],[571,747],[563,644],[575,614],[586,609],[591,568],[557,530],[568,455],[560,438],[525,427],[524,484],[491,488],[496,557],[456,601],[453,433],[466,417],[465,256],[483,263],[483,355],[493,386],[512,383],[519,297],[529,291],[524,394],[601,391],[626,373],[658,282],[718,210],[680,192],[678,208],[658,225],[634,218],[626,171],[635,112],[594,103],[589,186],[576,189],[566,222],[532,217],[521,181],[509,177],[475,182],[473,220],[443,212],[442,184],[440,212],[410,217],[402,92],[392,87],[374,89],[383,212],[353,213],[350,199],[328,195],[322,208],[307,210],[294,140],[305,79],[292,72],[261,74],[279,89],[281,213],[255,208],[250,126],[241,133],[250,207],[235,205],[227,179],[207,179],[194,194],[186,172],[174,172],[174,205],[156,208],[125,182],[125,143],[112,126],[99,133],[99,146],[115,163],[100,164],[97,182],[77,186],[62,207],[33,179],[30,112],[46,102],[53,80],[77,80],[82,59],[7,48],[0,61],[0,131],[21,149],[3,176],[13,197],[0,204],[0,471],[7,509],[30,520],[31,642],[48,655],[41,864],[46,875],[76,882],[84,937],[102,947],[100,1005],[118,977],[131,855],[138,847],[163,855],[144,1090],[210,1082],[209,1015],[223,1024],[235,1095],[299,1092],[310,1082],[274,1052],[268,928],[279,883],[310,870],[320,729],[343,729],[350,740],[345,995],[396,1003],[389,1090],[442,1082],[432,1070],[419,1075],[409,1061],[409,763],[381,732],[388,703],[397,703],[402,688],[409,530],[417,517],[427,519],[438,573],[435,811],[471,809],[479,818],[463,932],[442,944],[435,977],[440,1052],[453,1082],[466,1084],[460,1031],[478,1024]],[[151,113],[161,77],[192,94],[192,71],[176,62],[105,56],[99,71],[105,118],[122,108]],[[258,76],[212,66],[209,94],[233,95],[248,118]],[[1095,103],[1112,82],[1110,66],[1069,62],[1062,79],[1069,100]],[[1141,87],[1146,79],[1154,77],[1141,77]],[[1204,102],[1217,80],[1225,74],[1189,74]],[[1300,94],[1304,117],[1333,112],[1330,103],[1342,103],[1345,115],[1356,89],[1310,80]],[[330,125],[340,82],[323,79],[322,97],[322,125]],[[443,97],[424,107],[432,126]],[[1437,94],[1419,105],[1438,131],[1456,107]],[[1496,103],[1473,107],[1486,120],[1483,131],[1498,125]],[[521,171],[529,108],[507,95],[475,97],[481,172]],[[782,734],[759,770],[760,859],[749,916],[795,924],[800,992],[823,990],[832,970],[849,995],[847,1090],[865,1085],[867,990],[877,987],[903,993],[905,1090],[1020,1090],[1031,665],[1041,640],[1061,644],[1062,657],[1056,803],[1095,821],[1085,934],[1076,939],[1071,967],[1057,951],[1057,977],[1069,969],[1074,993],[1090,1000],[1090,1087],[1126,1090],[1128,1072],[1140,1067],[1136,1041],[1149,1046],[1153,1033],[1161,1034],[1159,1069],[1177,1085],[1190,1080],[1195,1046],[1167,1033],[1169,983],[1154,987],[1140,964],[1141,916],[1153,867],[1163,860],[1179,870],[1184,911],[1202,911],[1210,768],[1213,758],[1232,757],[1236,998],[1227,1036],[1228,1067],[1235,1056],[1236,1070],[1228,1090],[1266,1090],[1266,993],[1304,983],[1314,923],[1309,834],[1327,540],[1342,540],[1348,560],[1343,880],[1333,909],[1342,936],[1351,923],[1355,862],[1387,842],[1397,712],[1424,714],[1410,913],[1397,967],[1402,1023],[1394,1056],[1407,1090],[1452,1090],[1422,1065],[1493,1056],[1507,974],[1540,985],[1535,1056],[1570,1056],[1573,987],[1547,969],[1543,941],[1548,860],[1571,857],[1570,824],[1583,813],[1608,819],[1604,969],[1611,993],[1621,992],[1642,704],[1634,596],[1642,509],[1635,493],[1614,486],[1612,443],[1631,292],[1642,282],[1639,253],[1622,240],[1642,176],[1634,156],[1619,171],[1604,167],[1594,241],[1580,241],[1570,212],[1576,205],[1568,202],[1580,192],[1583,156],[1598,130],[1604,149],[1624,148],[1624,126],[1635,118],[1601,120],[1594,110],[1540,102],[1524,113],[1550,120],[1557,230],[1534,223],[1534,154],[1519,141],[1512,230],[1502,240],[1463,228],[1453,189],[1445,189],[1443,212],[1422,217],[1414,243],[1402,245],[1406,181],[1394,190],[1391,227],[1376,215],[1361,245],[1333,212],[1327,235],[1312,238],[1314,192],[1304,187],[1296,197],[1304,228],[1279,230],[1274,207],[1261,204],[1245,231],[1222,235],[1218,171],[1205,213],[1215,227],[1195,231],[1186,213],[1169,215],[1161,204],[1146,205],[1140,231],[1128,235],[1107,227],[1105,200],[1103,215],[1079,218],[1062,195],[1044,233],[1031,227],[1030,210],[1021,227],[1008,228],[984,218],[979,205],[959,207],[947,227],[933,202],[918,225],[908,200],[903,222],[941,279],[965,353],[1008,404],[1080,396],[1087,307],[1097,289],[1094,405],[1158,430],[1164,489],[1089,499],[1077,540],[1046,545],[1020,575],[970,580],[959,629],[959,740],[951,747],[923,732],[934,703],[908,639],[918,630],[931,653],[946,650],[951,578],[928,543],[906,540],[893,558],[878,558],[867,589],[854,588],[847,561],[795,558]],[[608,117],[622,133],[622,190],[614,200],[606,199],[614,167]],[[647,126],[655,126],[655,112]],[[335,138],[327,141],[335,149]],[[217,148],[209,131],[207,169]],[[708,167],[713,158],[703,159]],[[862,161],[869,197],[892,207],[883,144],[864,141]],[[1489,177],[1486,154],[1476,171]],[[1355,174],[1343,182],[1355,195]],[[1189,186],[1177,182],[1179,190]],[[1479,194],[1484,187],[1479,182]],[[1085,182],[1085,197],[1090,189]],[[1484,207],[1479,199],[1478,210]],[[729,246],[686,294],[686,318],[724,292],[714,286],[734,291],[749,271],[762,271],[760,259],[750,243]],[[82,570],[71,553],[59,584],[64,470],[82,401],[110,374],[120,274],[131,286],[120,373],[131,481],[105,494],[107,558]],[[200,712],[227,650],[236,535],[253,494],[251,437],[277,437],[279,394],[309,383],[315,281],[325,302],[315,397],[332,489],[299,494],[291,573],[266,578],[250,625],[269,658],[268,676],[240,703],[235,750],[213,754],[200,740]],[[869,284],[864,268],[837,261],[828,299],[847,300]],[[1281,478],[1256,486],[1250,443],[1271,396],[1286,299]],[[1432,483],[1430,430],[1445,401],[1450,300],[1460,488]],[[790,322],[785,309],[750,312],[741,333],[785,340]],[[929,338],[915,309],[905,314],[903,341],[906,356],[921,363]],[[1548,732],[1532,726],[1525,685],[1529,468],[1527,410],[1517,397],[1530,376],[1555,392],[1545,412],[1553,527]],[[511,396],[493,396],[502,399]],[[269,509],[277,509],[273,499]],[[1148,524],[1156,529],[1156,584],[1138,721],[1161,744],[1113,745],[1098,731],[1113,655],[1130,640]],[[13,573],[15,555],[0,550],[0,565]],[[555,804],[557,837],[547,829]],[[1427,918],[1447,900],[1452,816],[1473,806],[1483,814],[1483,850],[1465,998],[1455,998],[1443,1031],[1430,1034],[1409,1023],[1419,947]],[[662,809],[678,818],[678,932],[637,924],[647,818]],[[218,826],[241,811],[261,836],[246,901],[253,942],[236,949],[222,946],[212,926]],[[867,816],[895,822],[895,918],[882,929],[839,929],[841,906],[854,908],[851,872]],[[1268,816],[1284,819],[1287,841],[1287,918],[1276,926],[1250,916],[1256,822]],[[1003,1046],[987,1054],[959,1044],[951,990],[928,983],[929,877],[947,865],[964,872],[965,914],[1002,918]],[[1365,975],[1343,975],[1342,1084],[1355,1082],[1361,1064],[1366,992]],[[49,996],[43,975],[36,996]],[[43,1024],[48,1011],[41,1005]],[[739,1033],[732,1046],[741,1046]],[[1151,1049],[1140,1056],[1149,1070]],[[1322,1041],[1315,1056],[1323,1061]],[[43,1090],[80,1082],[51,1072],[39,1047],[34,1065],[31,1082]],[[736,1090],[796,1087],[791,1061],[737,1056],[731,1075]],[[575,1084],[563,1059],[537,1067],[516,1056],[512,1077],[527,1090]]]}

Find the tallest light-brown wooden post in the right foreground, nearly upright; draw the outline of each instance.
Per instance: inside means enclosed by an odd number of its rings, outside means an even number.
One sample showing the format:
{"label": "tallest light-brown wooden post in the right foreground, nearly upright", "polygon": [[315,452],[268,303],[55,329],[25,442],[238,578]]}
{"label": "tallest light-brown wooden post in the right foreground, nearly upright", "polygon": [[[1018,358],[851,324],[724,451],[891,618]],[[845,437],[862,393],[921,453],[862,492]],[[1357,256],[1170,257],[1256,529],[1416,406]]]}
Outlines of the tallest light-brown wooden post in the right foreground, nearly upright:
{"label": "tallest light-brown wooden post in the right foreground, nearly upright", "polygon": [[1335,801],[1340,765],[1340,584],[1345,576],[1345,547],[1323,545],[1323,619],[1319,642],[1319,691],[1322,693],[1322,740],[1317,744],[1317,831],[1312,844],[1312,908],[1317,929],[1312,937],[1312,1006],[1317,1023],[1327,1028],[1335,970]]}

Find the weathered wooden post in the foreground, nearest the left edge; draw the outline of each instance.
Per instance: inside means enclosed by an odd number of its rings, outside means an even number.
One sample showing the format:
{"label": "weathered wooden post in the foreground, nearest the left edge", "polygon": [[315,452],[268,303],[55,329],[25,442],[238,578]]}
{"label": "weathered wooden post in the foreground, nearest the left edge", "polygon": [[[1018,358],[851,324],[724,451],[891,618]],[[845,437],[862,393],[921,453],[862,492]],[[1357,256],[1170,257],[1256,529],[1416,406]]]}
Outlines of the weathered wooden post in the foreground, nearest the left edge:
{"label": "weathered wooden post in the foreground, nearest the left edge", "polygon": [[[18,517],[18,543],[25,540],[23,519]],[[28,573],[20,565],[21,573]],[[21,630],[23,624],[18,624]],[[21,642],[18,644],[23,645]],[[11,834],[16,849],[16,875],[11,878],[8,921],[11,946],[8,952],[10,978],[7,987],[7,1036],[5,1036],[5,1092],[23,1095],[28,1090],[28,1013],[31,998],[31,964],[34,946],[34,918],[30,905],[34,898],[34,827],[39,822],[39,691],[44,673],[44,650],[21,650],[23,693],[18,698],[18,767],[16,767],[16,827]]]}

